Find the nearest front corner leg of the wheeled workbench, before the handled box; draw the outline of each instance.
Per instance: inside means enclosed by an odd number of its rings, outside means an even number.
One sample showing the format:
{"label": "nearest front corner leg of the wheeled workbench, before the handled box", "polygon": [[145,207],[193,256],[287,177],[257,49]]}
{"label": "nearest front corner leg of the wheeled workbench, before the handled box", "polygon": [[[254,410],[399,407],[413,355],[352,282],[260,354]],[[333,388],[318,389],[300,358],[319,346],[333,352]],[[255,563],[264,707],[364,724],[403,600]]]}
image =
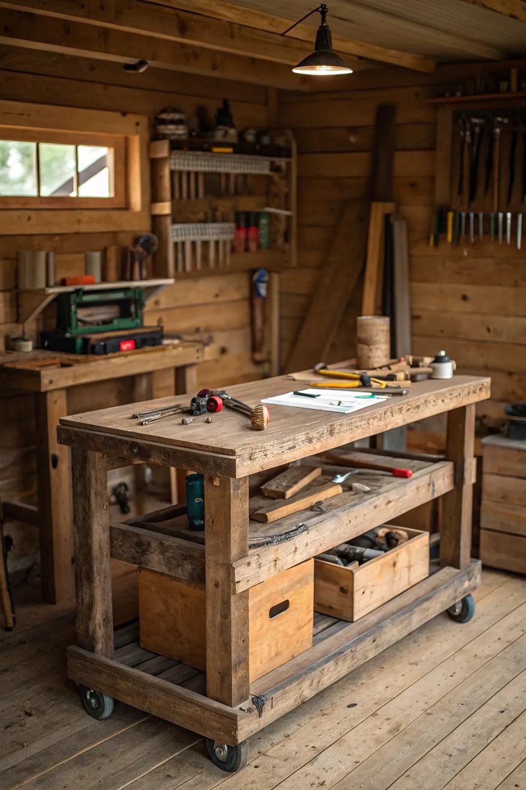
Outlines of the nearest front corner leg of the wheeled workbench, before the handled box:
{"label": "nearest front corner leg of the wheeled workbench, before the handled box", "polygon": [[235,594],[233,562],[248,555],[248,477],[205,475],[207,695],[240,705],[248,686],[248,590]]}

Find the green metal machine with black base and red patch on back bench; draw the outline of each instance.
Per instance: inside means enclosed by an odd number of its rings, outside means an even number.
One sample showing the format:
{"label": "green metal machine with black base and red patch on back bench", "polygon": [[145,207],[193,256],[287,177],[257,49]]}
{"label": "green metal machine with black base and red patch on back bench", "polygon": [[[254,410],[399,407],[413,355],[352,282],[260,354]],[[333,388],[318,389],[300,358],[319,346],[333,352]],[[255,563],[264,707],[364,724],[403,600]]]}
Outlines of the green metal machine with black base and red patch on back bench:
{"label": "green metal machine with black base and red patch on back bench", "polygon": [[[40,333],[43,348],[73,354],[108,354],[162,343],[162,326],[143,326],[144,293],[140,287],[58,294],[57,327]],[[83,308],[118,307],[109,318],[82,317]]]}

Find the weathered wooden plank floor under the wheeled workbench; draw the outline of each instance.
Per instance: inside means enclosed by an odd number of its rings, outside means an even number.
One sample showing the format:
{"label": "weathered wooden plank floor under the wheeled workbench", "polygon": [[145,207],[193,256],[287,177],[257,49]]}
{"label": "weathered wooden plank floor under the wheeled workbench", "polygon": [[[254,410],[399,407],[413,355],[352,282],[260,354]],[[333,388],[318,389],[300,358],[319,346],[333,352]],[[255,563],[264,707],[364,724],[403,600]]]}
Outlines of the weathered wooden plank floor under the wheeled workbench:
{"label": "weathered wooden plank floor under the wheeled workbench", "polygon": [[259,732],[234,775],[121,703],[88,717],[65,679],[72,612],[21,607],[0,642],[0,788],[526,790],[526,577],[484,570],[476,599],[471,623],[435,618]]}

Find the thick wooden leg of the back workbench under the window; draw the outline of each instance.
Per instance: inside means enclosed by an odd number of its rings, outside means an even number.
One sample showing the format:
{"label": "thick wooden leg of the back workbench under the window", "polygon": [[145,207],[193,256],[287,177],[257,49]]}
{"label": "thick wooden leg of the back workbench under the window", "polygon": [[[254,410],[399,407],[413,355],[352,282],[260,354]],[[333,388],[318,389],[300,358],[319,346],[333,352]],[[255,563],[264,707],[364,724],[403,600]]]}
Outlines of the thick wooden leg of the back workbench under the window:
{"label": "thick wooden leg of the back workbench under the window", "polygon": [[75,589],[69,447],[57,442],[58,419],[67,413],[65,389],[35,393],[40,567],[49,604],[73,597]]}

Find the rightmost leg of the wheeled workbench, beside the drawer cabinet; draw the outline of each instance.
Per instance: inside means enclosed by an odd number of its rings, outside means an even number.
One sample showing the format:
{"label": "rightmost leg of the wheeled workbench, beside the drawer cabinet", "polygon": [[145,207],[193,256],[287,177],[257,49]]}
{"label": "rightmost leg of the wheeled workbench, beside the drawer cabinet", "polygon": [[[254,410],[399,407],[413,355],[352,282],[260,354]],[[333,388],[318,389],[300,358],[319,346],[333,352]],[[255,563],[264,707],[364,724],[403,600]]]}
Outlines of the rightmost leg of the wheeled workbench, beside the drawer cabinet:
{"label": "rightmost leg of the wheeled workbench, beside the drawer cabinet", "polygon": [[448,412],[446,458],[455,465],[455,487],[443,497],[440,562],[461,570],[471,555],[474,446],[475,404]]}

